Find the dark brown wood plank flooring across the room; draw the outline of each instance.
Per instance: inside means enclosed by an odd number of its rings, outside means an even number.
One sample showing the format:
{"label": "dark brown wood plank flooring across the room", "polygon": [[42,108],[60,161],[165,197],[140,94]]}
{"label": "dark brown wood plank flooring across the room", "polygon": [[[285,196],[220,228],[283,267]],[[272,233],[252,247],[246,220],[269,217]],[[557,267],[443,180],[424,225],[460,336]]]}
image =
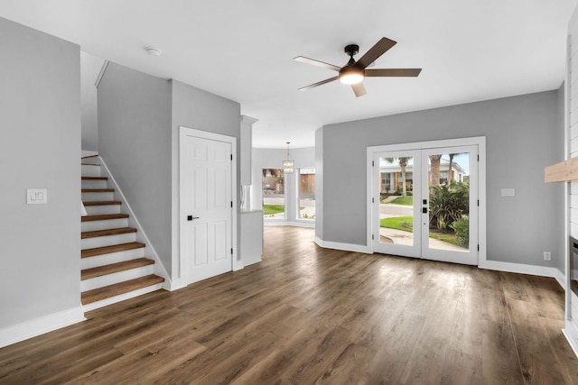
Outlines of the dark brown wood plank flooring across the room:
{"label": "dark brown wood plank flooring across the room", "polygon": [[555,280],[312,239],[0,349],[0,383],[578,384]]}

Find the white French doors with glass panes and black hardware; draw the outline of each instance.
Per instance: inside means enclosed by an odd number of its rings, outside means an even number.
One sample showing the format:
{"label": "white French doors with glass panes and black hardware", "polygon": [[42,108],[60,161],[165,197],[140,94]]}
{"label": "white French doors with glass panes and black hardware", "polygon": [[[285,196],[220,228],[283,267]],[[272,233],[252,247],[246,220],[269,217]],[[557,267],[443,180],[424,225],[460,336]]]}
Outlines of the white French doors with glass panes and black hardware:
{"label": "white French doors with glass panes and black hardware", "polygon": [[478,264],[478,146],[373,152],[374,252]]}

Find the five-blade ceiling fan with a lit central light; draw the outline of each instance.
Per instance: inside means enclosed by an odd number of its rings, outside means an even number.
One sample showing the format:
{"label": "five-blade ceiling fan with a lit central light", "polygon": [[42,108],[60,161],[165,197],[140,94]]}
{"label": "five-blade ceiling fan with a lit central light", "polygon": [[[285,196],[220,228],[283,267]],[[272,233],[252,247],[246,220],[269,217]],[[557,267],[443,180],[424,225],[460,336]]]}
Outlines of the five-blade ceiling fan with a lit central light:
{"label": "five-blade ceiling fan with a lit central light", "polygon": [[368,69],[369,64],[373,63],[375,60],[386,53],[391,47],[396,45],[396,41],[389,40],[387,38],[381,38],[380,41],[371,47],[365,55],[363,55],[359,60],[355,61],[353,56],[357,55],[359,52],[359,45],[350,44],[345,47],[345,53],[350,55],[350,60],[343,67],[338,67],[333,64],[325,63],[319,60],[313,60],[309,58],[304,58],[303,56],[298,56],[294,60],[300,61],[302,63],[312,64],[313,66],[322,67],[324,69],[333,69],[339,72],[339,75],[333,78],[327,78],[312,85],[299,88],[300,91],[306,91],[313,87],[322,86],[323,84],[329,83],[333,80],[339,79],[343,84],[349,84],[355,93],[355,96],[364,96],[367,94],[365,87],[363,86],[364,78],[390,78],[390,77],[416,77],[422,71],[422,69]]}

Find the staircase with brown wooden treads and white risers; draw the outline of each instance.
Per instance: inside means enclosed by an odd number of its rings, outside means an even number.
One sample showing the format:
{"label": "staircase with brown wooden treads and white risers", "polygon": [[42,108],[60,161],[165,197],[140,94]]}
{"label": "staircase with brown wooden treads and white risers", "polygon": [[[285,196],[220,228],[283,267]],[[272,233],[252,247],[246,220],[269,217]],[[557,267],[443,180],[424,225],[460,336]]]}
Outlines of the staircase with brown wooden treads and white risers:
{"label": "staircase with brown wooden treads and white risers", "polygon": [[85,311],[163,288],[154,275],[154,260],[144,256],[145,244],[136,242],[137,230],[115,200],[114,188],[101,177],[98,155],[82,159],[80,252],[81,301]]}

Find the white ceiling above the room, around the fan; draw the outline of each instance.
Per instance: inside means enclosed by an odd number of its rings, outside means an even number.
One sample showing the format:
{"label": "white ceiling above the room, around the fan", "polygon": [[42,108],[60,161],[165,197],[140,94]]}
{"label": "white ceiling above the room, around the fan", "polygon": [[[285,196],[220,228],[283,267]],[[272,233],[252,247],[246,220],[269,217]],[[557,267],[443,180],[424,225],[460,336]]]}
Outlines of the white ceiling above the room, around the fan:
{"label": "white ceiling above the room, around the fan", "polygon": [[[254,146],[314,145],[322,124],[554,89],[564,80],[566,25],[578,0],[2,0],[0,16],[81,50],[237,101]],[[360,55],[397,41],[375,68],[418,78],[367,78],[368,95],[332,82],[343,47]],[[163,51],[158,58],[144,48]]]}

